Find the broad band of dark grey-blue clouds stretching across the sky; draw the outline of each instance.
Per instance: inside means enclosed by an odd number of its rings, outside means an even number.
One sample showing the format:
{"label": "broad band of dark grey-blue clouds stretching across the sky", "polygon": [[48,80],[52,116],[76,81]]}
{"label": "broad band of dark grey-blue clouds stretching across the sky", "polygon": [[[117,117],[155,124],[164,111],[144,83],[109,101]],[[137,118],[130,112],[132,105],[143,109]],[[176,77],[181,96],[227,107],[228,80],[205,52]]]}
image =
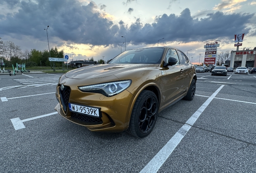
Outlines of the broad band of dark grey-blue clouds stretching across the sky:
{"label": "broad band of dark grey-blue clouds stretching across the sky", "polygon": [[[2,2],[2,1],[1,1]],[[131,2],[131,1],[127,1]],[[153,23],[142,24],[140,18],[128,26],[122,20],[114,24],[94,2],[81,4],[78,0],[21,1],[19,11],[0,16],[0,35],[22,40],[46,39],[55,45],[87,44],[113,46],[126,37],[126,44],[155,44],[160,38],[165,42],[205,41],[218,37],[233,39],[238,31],[255,36],[255,26],[247,27],[254,14],[204,12],[204,18],[194,18],[188,8],[180,15],[162,14]],[[129,8],[129,10],[132,8]],[[128,10],[128,12],[129,12]],[[132,10],[130,10],[132,12]],[[207,13],[208,12],[208,13]],[[200,16],[202,14],[198,14]]]}

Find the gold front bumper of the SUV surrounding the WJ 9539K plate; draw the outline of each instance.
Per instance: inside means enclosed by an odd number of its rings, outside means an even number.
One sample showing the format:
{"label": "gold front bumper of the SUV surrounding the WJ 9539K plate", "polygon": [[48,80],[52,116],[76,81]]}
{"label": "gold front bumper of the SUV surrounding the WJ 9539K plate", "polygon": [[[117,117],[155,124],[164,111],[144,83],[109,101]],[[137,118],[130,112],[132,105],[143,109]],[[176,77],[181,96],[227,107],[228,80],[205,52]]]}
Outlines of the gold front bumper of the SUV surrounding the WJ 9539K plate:
{"label": "gold front bumper of the SUV surrounding the WJ 9539K plate", "polygon": [[[56,98],[59,101],[55,110],[65,119],[83,125],[91,131],[122,132],[128,129],[130,113],[134,96],[124,90],[118,95],[105,97],[99,93],[84,93],[74,85],[66,86],[67,91],[56,88]],[[68,103],[97,107],[101,117],[74,113],[69,111]]]}

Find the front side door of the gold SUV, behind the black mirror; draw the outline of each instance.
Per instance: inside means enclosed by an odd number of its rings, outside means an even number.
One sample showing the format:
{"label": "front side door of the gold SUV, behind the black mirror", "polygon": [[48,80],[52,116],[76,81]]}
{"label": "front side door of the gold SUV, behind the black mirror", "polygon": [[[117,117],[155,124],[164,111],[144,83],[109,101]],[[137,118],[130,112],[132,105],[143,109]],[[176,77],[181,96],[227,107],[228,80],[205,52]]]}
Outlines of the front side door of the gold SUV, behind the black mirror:
{"label": "front side door of the gold SUV, behind the black mirror", "polygon": [[183,85],[183,66],[180,64],[178,54],[175,49],[169,49],[165,55],[165,62],[168,62],[169,57],[174,57],[178,60],[175,65],[165,66],[162,70],[161,84],[163,91],[163,107],[175,101],[182,95]]}

